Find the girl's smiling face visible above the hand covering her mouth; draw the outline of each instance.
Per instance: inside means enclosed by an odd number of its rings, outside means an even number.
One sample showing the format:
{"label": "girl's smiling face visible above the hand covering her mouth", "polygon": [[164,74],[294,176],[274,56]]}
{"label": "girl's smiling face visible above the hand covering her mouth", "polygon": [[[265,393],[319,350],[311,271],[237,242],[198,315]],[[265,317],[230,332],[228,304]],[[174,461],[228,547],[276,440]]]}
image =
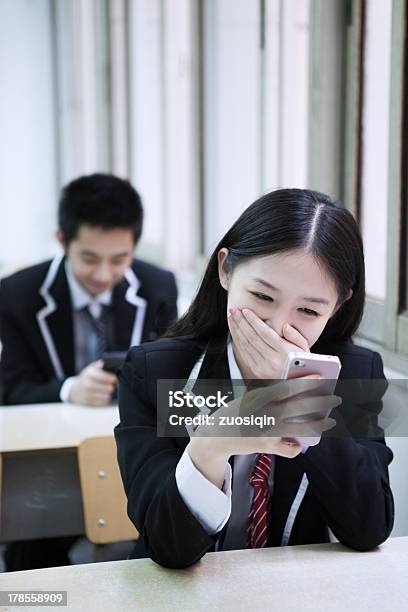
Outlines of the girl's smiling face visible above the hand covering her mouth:
{"label": "girl's smiling face visible above the hand covering her mouth", "polygon": [[288,251],[254,257],[225,270],[228,251],[218,254],[220,282],[228,291],[228,308],[249,308],[281,337],[290,323],[315,344],[336,312],[338,294],[333,280],[309,253]]}

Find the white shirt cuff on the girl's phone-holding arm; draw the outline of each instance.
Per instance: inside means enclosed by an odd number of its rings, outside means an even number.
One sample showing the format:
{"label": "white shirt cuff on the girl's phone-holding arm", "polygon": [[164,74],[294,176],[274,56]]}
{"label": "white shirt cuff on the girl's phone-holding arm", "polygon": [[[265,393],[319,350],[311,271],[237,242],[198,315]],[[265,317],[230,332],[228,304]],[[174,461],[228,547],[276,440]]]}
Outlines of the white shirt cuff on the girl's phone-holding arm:
{"label": "white shirt cuff on the girl's phone-holding arm", "polygon": [[228,463],[222,490],[198,470],[187,448],[176,468],[176,483],[182,500],[208,535],[221,531],[231,514],[231,466]]}

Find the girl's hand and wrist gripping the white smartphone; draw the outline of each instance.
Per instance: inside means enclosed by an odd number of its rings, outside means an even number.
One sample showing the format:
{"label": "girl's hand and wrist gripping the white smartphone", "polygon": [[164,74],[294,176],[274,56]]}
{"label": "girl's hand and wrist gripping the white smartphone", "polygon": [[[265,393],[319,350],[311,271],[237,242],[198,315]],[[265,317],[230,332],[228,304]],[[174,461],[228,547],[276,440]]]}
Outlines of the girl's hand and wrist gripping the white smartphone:
{"label": "girl's hand and wrist gripping the white smartphone", "polygon": [[[302,451],[298,437],[320,438],[324,431],[335,425],[328,415],[341,400],[333,395],[318,395],[321,384],[321,377],[313,375],[283,380],[248,391],[242,398],[229,402],[227,408],[213,413],[218,422],[221,416],[269,413],[276,417],[276,426],[266,430],[254,427],[243,431],[233,424],[218,429],[213,425],[200,425],[188,445],[191,460],[210,482],[221,488],[226,463],[232,455],[269,453],[288,459],[296,457]],[[323,412],[326,418],[322,418]],[[313,413],[315,418],[303,421],[302,415]]]}

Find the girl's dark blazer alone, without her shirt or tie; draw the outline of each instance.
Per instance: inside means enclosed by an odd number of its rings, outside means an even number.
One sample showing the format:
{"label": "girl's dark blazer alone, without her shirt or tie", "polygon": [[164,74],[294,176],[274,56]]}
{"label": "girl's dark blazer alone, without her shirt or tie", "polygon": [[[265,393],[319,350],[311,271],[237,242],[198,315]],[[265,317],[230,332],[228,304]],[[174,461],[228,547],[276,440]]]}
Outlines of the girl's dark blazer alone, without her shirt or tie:
{"label": "girl's dark blazer alone, without her shirt or tie", "polygon": [[[229,378],[225,339],[217,343],[215,348],[210,343],[199,378]],[[380,379],[384,392],[378,353],[351,343],[318,348],[314,352],[339,356],[343,380]],[[132,348],[119,374],[120,423],[115,437],[128,515],[143,534],[151,558],[172,568],[187,567],[214,550],[217,536],[207,534],[179,494],[175,470],[188,438],[156,435],[156,383],[161,378],[187,379],[204,349],[205,345],[188,338],[163,338]],[[376,401],[368,400],[374,421],[382,393]],[[386,540],[394,520],[387,467],[393,455],[381,430],[374,427],[373,431],[375,437],[370,438],[323,434],[320,443],[305,454],[294,459],[276,456],[269,546],[281,543],[304,473],[309,486],[289,544],[327,542],[328,528],[355,550],[369,550]]]}

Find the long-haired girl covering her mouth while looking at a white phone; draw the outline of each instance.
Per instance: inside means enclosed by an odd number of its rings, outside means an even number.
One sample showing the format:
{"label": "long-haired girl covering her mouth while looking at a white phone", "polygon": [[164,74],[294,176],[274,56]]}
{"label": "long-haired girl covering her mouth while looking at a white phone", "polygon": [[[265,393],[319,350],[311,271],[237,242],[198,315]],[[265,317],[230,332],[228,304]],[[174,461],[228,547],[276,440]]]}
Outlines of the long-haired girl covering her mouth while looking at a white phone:
{"label": "long-haired girl covering her mouth while looking at a white phone", "polygon": [[351,341],[363,306],[362,241],[340,204],[284,189],[243,212],[188,312],[167,337],[131,349],[120,374],[118,460],[153,560],[182,568],[210,550],[327,542],[329,529],[356,550],[389,536],[392,452],[381,434],[302,448],[156,430],[159,379],[279,379],[291,351],[338,355],[343,379],[384,379],[379,354]]}

